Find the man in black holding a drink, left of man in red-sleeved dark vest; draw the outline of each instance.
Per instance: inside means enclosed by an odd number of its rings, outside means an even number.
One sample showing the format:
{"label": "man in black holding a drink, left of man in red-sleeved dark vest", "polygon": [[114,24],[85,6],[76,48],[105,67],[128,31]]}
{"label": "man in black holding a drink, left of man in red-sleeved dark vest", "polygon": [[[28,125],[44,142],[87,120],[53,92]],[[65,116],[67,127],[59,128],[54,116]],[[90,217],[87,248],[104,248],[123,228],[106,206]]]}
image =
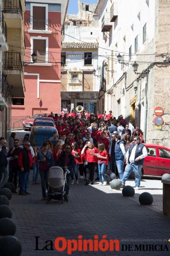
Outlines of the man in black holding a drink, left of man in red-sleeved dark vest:
{"label": "man in black holding a drink, left of man in red-sleeved dark vest", "polygon": [[19,147],[19,139],[14,140],[14,147],[10,148],[7,154],[7,157],[10,157],[9,161],[9,182],[13,182],[15,185],[15,192],[17,189],[17,182],[18,182],[18,176],[19,176],[19,171],[20,167],[17,162],[17,158],[19,153],[22,151],[22,149]]}

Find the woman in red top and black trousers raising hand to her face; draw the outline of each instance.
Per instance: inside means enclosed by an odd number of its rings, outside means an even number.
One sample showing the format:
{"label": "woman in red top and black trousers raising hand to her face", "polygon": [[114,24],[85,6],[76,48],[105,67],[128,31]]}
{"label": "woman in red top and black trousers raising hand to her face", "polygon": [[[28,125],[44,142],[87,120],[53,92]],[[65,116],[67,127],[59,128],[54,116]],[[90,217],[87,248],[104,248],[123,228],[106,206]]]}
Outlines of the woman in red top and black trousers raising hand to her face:
{"label": "woman in red top and black trousers raising hand to her face", "polygon": [[93,155],[93,153],[98,153],[98,150],[96,147],[94,147],[94,144],[90,141],[85,144],[85,146],[82,149],[82,155],[85,155],[85,160],[88,161],[88,166],[86,167],[86,184],[88,185],[91,180],[91,185],[94,184],[94,170],[95,170],[95,164],[97,162],[97,157]]}

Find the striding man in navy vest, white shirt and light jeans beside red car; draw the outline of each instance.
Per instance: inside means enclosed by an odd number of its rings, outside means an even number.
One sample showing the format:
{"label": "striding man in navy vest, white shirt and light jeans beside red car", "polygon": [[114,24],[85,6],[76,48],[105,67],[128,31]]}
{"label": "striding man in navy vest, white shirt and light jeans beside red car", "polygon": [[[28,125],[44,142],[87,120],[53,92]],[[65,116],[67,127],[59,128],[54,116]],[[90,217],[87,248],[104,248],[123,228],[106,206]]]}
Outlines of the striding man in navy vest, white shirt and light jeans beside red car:
{"label": "striding man in navy vest, white shirt and light jeans beside red car", "polygon": [[142,177],[142,166],[144,158],[147,157],[147,150],[145,145],[140,143],[140,137],[135,136],[134,143],[131,144],[129,150],[126,153],[126,168],[122,179],[122,185],[125,185],[125,181],[129,178],[132,171],[135,173],[135,190],[139,190],[141,177]]}

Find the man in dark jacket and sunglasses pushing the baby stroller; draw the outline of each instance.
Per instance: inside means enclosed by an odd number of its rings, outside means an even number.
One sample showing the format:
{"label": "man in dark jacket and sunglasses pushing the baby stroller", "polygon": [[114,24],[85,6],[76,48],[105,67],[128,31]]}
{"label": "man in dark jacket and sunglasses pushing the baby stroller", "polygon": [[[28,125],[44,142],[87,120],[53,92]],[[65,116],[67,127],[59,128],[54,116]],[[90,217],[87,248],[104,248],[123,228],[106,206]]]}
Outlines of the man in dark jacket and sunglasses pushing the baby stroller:
{"label": "man in dark jacket and sunglasses pushing the baby stroller", "polygon": [[[61,166],[64,170],[67,170],[67,175],[66,175],[66,196],[64,200],[68,200],[68,192],[70,189],[70,181],[71,181],[71,172],[73,172],[73,166],[74,166],[74,157],[70,153],[70,146],[66,145],[64,146],[64,151],[62,151],[60,157],[58,158],[56,165]],[[70,171],[70,173],[68,172]]]}

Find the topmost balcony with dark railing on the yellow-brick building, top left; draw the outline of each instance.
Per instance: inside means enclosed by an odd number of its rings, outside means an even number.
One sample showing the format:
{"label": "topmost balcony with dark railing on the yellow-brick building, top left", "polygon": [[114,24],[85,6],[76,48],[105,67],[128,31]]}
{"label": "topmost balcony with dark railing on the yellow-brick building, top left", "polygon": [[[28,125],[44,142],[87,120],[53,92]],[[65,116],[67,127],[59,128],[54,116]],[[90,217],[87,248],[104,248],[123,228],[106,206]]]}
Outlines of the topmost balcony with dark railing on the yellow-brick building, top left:
{"label": "topmost balcony with dark railing on the yellow-brick building, top left", "polygon": [[3,12],[8,28],[22,28],[23,9],[21,0],[4,0]]}

